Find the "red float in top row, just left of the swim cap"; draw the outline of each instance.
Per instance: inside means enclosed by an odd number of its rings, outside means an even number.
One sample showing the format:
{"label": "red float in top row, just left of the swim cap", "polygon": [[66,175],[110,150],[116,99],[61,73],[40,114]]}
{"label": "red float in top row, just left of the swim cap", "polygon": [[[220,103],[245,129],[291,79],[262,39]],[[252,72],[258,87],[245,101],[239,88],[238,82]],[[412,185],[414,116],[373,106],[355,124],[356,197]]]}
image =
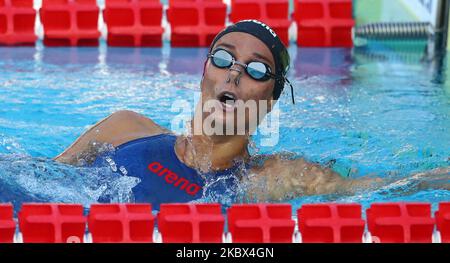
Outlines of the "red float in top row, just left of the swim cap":
{"label": "red float in top row, just left of the swim cap", "polygon": [[225,27],[222,0],[169,0],[167,20],[173,47],[208,47]]}

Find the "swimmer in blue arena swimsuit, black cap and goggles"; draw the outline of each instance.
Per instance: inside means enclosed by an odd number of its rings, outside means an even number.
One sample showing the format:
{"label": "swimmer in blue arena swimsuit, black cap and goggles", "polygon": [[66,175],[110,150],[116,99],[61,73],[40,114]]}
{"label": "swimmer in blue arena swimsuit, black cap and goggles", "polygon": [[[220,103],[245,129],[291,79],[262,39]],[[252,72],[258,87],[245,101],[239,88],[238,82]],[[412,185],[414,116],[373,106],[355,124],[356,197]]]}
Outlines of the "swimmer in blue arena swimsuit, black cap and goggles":
{"label": "swimmer in blue arena swimsuit, black cap and goggles", "polygon": [[[141,114],[122,110],[95,124],[55,160],[73,165],[112,165],[123,175],[139,177],[141,182],[133,189],[135,200],[152,204],[196,200],[208,179],[241,170],[246,171],[244,176],[215,191],[244,183],[253,200],[273,201],[288,196],[352,193],[379,185],[379,178],[347,179],[303,158],[273,155],[255,162],[250,156],[254,119],[244,111],[244,120],[238,120],[238,102],[254,101],[264,117],[285,85],[290,85],[286,78],[289,64],[286,47],[270,27],[256,20],[240,21],[218,33],[209,48],[200,83],[201,100],[189,135],[175,135]],[[208,103],[216,110],[197,111]],[[215,125],[234,125],[234,133],[206,131],[202,123],[211,118]],[[256,124],[262,119],[257,118]],[[244,133],[236,131],[239,124]],[[94,144],[110,144],[115,151],[102,156]]]}

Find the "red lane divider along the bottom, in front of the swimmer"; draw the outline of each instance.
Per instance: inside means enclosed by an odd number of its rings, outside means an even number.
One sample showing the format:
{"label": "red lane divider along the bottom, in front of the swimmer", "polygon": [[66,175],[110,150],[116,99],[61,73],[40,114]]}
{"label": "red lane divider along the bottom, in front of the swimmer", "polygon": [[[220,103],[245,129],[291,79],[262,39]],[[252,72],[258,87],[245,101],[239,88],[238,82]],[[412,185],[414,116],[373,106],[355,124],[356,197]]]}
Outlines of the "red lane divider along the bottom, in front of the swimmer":
{"label": "red lane divider along the bottom, in front of the swimmer", "polygon": [[[450,243],[450,202],[0,204],[0,243]],[[155,214],[154,214],[155,213]]]}

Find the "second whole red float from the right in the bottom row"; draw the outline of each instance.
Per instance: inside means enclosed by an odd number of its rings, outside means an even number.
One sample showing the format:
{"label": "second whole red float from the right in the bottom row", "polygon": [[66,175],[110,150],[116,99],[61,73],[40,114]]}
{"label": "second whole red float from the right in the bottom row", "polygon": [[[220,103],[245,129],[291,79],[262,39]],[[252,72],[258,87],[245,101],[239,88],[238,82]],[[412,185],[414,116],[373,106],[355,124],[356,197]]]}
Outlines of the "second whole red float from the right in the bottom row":
{"label": "second whole red float from the right in the bottom row", "polygon": [[359,204],[306,204],[297,210],[304,243],[361,243],[365,222]]}

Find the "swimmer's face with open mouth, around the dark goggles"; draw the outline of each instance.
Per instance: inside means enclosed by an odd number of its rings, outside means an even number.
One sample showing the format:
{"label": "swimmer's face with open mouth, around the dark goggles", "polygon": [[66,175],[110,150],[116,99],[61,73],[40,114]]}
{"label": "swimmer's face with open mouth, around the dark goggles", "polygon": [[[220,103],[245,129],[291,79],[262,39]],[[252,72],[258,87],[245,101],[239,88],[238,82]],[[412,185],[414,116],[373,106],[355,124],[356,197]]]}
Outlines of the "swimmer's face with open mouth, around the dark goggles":
{"label": "swimmer's face with open mouth, around the dark goggles", "polygon": [[[253,35],[242,32],[228,33],[214,44],[212,53],[218,48],[228,51],[238,62],[244,64],[253,61],[262,62],[269,66],[272,73],[275,72],[272,53]],[[231,68],[231,70],[218,68],[211,59],[207,60],[201,83],[202,106],[211,108],[210,106],[214,105],[215,111],[206,113],[203,111],[203,120],[215,119],[228,126],[224,128],[234,126],[235,133],[238,127],[245,125],[245,132],[252,133],[256,128],[253,126],[258,125],[272,109],[275,102],[273,100],[275,80],[272,78],[265,81],[255,80],[247,74],[242,65],[234,64]],[[252,105],[256,105],[253,107],[256,110],[250,110]],[[246,113],[245,118],[242,117],[243,112]]]}

